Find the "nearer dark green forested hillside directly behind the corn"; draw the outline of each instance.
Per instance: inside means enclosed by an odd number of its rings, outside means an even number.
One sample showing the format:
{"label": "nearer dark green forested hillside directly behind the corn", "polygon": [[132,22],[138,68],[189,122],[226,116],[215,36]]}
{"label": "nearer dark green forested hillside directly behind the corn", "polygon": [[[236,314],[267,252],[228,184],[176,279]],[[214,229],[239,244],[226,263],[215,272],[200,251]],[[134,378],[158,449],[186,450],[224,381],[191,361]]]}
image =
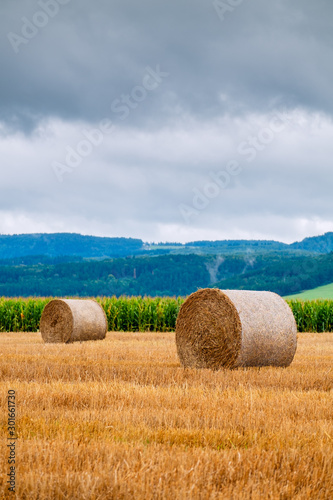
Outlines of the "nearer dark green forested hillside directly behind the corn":
{"label": "nearer dark green forested hillside directly behind the corn", "polygon": [[1,265],[0,297],[186,296],[198,288],[270,290],[282,296],[333,282],[333,253],[318,256],[163,255]]}

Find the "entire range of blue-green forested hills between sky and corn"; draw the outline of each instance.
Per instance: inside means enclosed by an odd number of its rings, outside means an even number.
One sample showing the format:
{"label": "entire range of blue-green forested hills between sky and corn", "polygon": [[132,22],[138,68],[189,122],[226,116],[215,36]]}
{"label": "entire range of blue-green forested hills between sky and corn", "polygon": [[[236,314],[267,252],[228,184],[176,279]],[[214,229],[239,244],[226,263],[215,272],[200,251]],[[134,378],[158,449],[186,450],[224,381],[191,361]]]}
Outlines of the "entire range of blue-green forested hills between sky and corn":
{"label": "entire range of blue-green forested hills between sky and corn", "polygon": [[77,234],[0,236],[0,297],[186,296],[198,288],[290,295],[333,282],[333,233],[273,241],[147,244]]}

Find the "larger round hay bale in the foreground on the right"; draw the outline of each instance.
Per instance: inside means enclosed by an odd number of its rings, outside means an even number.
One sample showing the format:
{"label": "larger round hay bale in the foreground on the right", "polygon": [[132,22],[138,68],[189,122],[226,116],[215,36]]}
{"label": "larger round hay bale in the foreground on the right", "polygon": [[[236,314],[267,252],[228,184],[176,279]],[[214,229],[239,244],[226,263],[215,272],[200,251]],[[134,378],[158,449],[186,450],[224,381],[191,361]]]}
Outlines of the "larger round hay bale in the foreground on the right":
{"label": "larger round hay bale in the foreground on the right", "polygon": [[289,366],[297,326],[275,293],[205,288],[180,308],[176,344],[184,367]]}

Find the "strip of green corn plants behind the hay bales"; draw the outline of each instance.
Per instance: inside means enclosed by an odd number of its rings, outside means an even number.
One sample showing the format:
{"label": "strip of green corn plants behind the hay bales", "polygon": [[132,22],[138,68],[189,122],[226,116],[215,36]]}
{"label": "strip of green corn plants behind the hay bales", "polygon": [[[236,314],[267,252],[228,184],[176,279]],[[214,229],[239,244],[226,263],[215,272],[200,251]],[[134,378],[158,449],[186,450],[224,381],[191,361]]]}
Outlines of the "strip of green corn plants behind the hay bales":
{"label": "strip of green corn plants behind the hay bales", "polygon": [[[49,298],[0,298],[0,331],[37,332]],[[175,329],[181,297],[98,297],[109,331],[169,332]],[[300,332],[333,331],[333,300],[288,301]]]}

